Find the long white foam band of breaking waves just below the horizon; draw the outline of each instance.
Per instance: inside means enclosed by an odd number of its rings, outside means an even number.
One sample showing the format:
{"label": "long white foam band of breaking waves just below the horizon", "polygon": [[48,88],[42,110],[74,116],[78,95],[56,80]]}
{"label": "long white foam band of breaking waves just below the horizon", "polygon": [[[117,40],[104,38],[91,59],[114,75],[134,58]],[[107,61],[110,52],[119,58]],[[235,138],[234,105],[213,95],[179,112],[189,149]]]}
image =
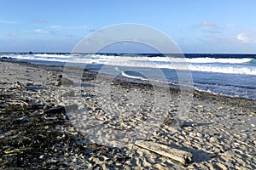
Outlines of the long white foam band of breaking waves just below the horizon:
{"label": "long white foam band of breaking waves just below the horizon", "polygon": [[105,54],[8,54],[1,57],[15,59],[36,59],[44,61],[59,61],[84,64],[102,64],[130,67],[163,68],[190,71],[207,71],[227,74],[256,75],[255,66],[243,65],[253,59],[250,58],[175,58],[175,57],[147,57],[114,56]]}

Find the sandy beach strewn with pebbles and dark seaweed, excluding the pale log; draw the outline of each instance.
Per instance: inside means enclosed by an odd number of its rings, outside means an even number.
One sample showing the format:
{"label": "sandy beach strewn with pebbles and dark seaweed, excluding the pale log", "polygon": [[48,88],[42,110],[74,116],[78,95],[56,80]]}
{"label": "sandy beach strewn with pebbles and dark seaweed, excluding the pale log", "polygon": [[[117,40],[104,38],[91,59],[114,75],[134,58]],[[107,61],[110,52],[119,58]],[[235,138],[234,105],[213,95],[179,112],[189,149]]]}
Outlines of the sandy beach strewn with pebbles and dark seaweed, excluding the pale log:
{"label": "sandy beach strewn with pebbles and dark seaweed, excluding the pale log", "polygon": [[[256,101],[194,91],[182,127],[154,126],[154,116],[162,120],[179,110],[179,90],[160,88],[172,98],[163,95],[167,104],[155,109],[147,83],[108,76],[99,82],[96,72],[8,59],[0,61],[0,72],[1,169],[256,169]],[[109,99],[96,88],[104,83],[115,92]],[[193,158],[183,164],[137,140]]]}

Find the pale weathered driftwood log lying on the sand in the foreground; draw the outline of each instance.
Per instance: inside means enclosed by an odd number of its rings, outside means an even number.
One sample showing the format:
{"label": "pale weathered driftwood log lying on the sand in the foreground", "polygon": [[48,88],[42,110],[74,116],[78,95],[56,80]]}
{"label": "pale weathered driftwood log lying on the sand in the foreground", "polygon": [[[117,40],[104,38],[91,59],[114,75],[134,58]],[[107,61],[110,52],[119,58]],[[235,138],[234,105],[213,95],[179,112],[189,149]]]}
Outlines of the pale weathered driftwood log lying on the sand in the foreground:
{"label": "pale weathered driftwood log lying on the sand in the foreground", "polygon": [[137,140],[135,144],[144,149],[160,154],[161,156],[167,156],[169,158],[172,158],[175,161],[179,161],[183,165],[188,164],[190,161],[192,161],[193,155],[190,152],[177,150],[165,144],[159,144],[152,141],[143,141],[143,140]]}

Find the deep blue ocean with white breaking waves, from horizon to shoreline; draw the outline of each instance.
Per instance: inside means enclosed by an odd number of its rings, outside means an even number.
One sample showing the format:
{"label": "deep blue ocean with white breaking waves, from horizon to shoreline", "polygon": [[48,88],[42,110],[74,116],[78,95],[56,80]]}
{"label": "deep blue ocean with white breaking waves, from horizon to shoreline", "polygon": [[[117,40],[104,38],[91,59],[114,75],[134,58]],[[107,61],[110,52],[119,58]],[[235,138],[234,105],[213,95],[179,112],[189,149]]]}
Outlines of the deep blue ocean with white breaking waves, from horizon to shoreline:
{"label": "deep blue ocean with white breaking waves, from horizon to shoreline", "polygon": [[202,92],[256,100],[256,54],[0,54],[0,58],[86,67],[128,81],[185,84]]}

